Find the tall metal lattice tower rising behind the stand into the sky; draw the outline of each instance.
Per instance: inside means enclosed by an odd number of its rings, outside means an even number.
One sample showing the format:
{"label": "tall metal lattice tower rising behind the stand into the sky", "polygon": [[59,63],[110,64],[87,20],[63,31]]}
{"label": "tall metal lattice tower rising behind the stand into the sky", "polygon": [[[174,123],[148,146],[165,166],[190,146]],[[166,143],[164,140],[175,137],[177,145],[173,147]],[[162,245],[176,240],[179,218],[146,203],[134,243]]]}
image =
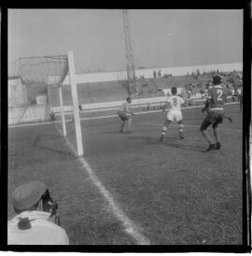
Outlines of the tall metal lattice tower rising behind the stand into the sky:
{"label": "tall metal lattice tower rising behind the stand into the sky", "polygon": [[133,48],[132,48],[132,40],[130,36],[130,26],[128,21],[127,9],[122,10],[122,18],[123,18],[123,29],[124,29],[126,61],[127,61],[127,78],[129,83],[131,84],[135,80],[135,70],[134,70],[134,64],[133,64]]}

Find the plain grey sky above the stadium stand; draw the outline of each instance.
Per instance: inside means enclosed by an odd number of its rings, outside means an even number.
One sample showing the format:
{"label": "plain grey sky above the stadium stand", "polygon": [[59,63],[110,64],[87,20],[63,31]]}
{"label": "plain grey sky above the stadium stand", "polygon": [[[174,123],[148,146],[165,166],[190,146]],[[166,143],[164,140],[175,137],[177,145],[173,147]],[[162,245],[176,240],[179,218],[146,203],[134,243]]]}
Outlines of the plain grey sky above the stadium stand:
{"label": "plain grey sky above the stadium stand", "polygon": [[[135,67],[240,63],[241,9],[128,10]],[[126,69],[121,9],[8,9],[8,74],[16,59],[73,50],[77,73]]]}

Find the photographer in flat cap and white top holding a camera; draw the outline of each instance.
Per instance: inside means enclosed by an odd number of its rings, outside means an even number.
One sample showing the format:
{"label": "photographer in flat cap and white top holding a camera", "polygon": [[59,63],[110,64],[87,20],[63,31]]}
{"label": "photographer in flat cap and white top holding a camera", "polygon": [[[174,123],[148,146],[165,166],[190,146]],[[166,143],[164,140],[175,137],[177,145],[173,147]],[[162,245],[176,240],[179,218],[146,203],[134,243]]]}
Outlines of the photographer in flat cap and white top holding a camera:
{"label": "photographer in flat cap and white top holding a camera", "polygon": [[7,221],[8,245],[69,245],[57,203],[43,182],[31,181],[15,189],[12,203],[17,216]]}

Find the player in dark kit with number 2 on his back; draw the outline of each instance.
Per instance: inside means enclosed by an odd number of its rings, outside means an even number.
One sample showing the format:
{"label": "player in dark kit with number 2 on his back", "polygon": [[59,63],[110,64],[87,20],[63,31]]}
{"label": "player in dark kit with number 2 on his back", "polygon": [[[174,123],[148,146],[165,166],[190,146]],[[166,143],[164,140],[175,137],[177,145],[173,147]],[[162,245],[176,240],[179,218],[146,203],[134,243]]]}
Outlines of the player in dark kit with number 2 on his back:
{"label": "player in dark kit with number 2 on his back", "polygon": [[[218,124],[223,121],[226,98],[231,93],[221,84],[221,78],[219,76],[213,77],[213,84],[213,88],[208,91],[205,103],[205,107],[209,106],[209,112],[201,126],[203,137],[209,143],[207,151],[221,148]],[[217,143],[213,141],[207,131],[210,124],[212,124]]]}

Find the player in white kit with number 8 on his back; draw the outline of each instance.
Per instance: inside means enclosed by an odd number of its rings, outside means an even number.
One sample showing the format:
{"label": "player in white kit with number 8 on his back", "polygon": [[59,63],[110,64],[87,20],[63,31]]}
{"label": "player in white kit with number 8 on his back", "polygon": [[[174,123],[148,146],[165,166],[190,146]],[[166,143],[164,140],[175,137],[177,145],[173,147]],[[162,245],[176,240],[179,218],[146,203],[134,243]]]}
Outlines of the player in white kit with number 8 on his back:
{"label": "player in white kit with number 8 on his back", "polygon": [[168,111],[166,120],[164,121],[164,125],[161,129],[160,141],[163,140],[163,138],[168,130],[168,127],[172,121],[177,121],[177,123],[179,125],[179,128],[178,128],[179,137],[181,139],[184,138],[184,135],[183,135],[184,124],[183,124],[183,117],[182,117],[180,107],[182,104],[185,103],[185,101],[182,97],[176,95],[176,93],[177,93],[176,87],[173,87],[171,89],[171,91],[172,91],[172,95],[167,97],[167,102],[163,106],[163,112],[165,111],[165,107],[167,107],[168,104],[171,106],[171,109]]}

